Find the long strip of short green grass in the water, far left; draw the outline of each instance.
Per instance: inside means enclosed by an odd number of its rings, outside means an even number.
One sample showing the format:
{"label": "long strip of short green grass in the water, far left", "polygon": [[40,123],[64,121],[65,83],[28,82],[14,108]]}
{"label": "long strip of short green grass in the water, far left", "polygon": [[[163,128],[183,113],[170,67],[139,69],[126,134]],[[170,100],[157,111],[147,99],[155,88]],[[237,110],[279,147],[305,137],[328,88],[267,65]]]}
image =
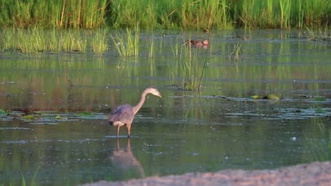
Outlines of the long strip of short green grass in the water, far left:
{"label": "long strip of short green grass in the water, far left", "polygon": [[[94,52],[108,50],[108,30],[43,30],[39,28],[9,28],[1,32],[0,49],[26,54],[41,52]],[[89,50],[90,46],[90,50]]]}

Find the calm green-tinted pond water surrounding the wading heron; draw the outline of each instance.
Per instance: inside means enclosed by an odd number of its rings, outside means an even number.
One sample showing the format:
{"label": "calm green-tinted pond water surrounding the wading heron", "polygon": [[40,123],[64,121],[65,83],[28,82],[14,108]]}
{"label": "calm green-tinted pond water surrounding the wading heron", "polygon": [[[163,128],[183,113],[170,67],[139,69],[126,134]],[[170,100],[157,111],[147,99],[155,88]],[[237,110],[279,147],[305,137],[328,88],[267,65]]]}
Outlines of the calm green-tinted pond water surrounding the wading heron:
{"label": "calm green-tinted pond water surrounding the wading heron", "polygon": [[[214,32],[208,50],[196,51],[194,65],[202,68],[195,76],[203,69],[197,92],[178,88],[188,71],[179,54],[188,37],[208,35],[141,32],[134,57],[119,56],[112,43],[103,55],[1,53],[0,185],[330,161],[331,41],[296,31]],[[151,85],[163,99],[148,96],[132,138],[122,127],[117,139],[110,111],[137,104]],[[268,94],[281,99],[251,98]]]}

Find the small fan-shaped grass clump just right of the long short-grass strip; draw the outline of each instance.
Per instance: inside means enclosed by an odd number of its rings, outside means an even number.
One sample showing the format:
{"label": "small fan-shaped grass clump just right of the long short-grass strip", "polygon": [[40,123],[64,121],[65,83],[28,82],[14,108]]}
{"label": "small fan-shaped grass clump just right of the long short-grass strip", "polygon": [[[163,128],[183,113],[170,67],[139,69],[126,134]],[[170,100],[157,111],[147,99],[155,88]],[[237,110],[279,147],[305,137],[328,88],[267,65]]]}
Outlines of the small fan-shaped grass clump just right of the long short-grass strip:
{"label": "small fan-shaped grass clump just right of the long short-grass strip", "polygon": [[137,56],[139,54],[139,26],[136,26],[133,32],[126,28],[126,32],[111,36],[114,47],[120,56]]}

